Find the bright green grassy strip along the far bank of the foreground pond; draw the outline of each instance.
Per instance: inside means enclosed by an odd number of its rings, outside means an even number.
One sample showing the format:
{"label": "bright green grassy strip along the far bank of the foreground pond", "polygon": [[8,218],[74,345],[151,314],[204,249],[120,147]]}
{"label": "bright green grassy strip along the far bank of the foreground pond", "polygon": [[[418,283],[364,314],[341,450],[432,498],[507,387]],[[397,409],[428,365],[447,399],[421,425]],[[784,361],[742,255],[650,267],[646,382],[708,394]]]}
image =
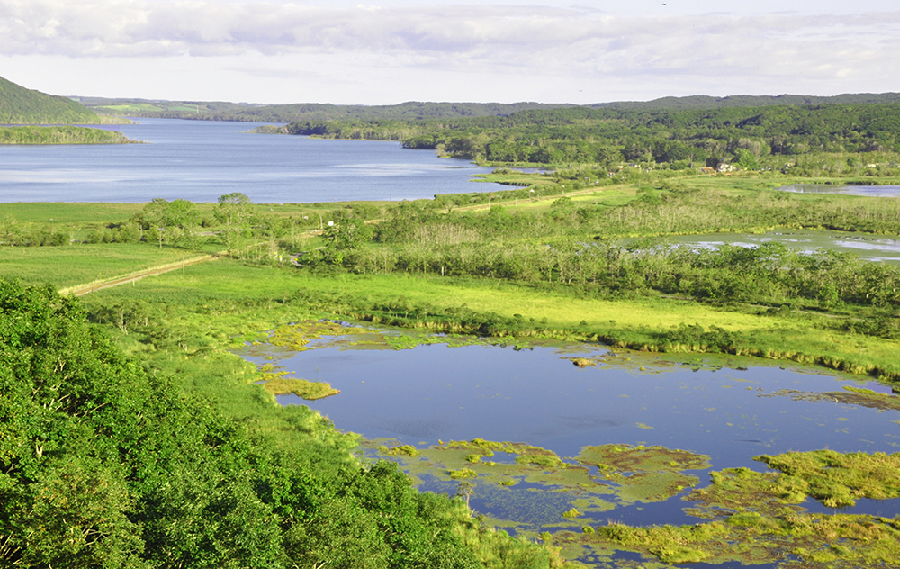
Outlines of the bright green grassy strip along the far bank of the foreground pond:
{"label": "bright green grassy strip along the far bank of the foreground pond", "polygon": [[[856,321],[860,314],[770,312],[671,298],[604,300],[562,285],[415,275],[323,277],[296,268],[220,260],[92,294],[85,303],[103,310],[118,307],[126,324],[177,322],[186,327],[179,335],[188,344],[208,333],[214,322],[219,328],[215,334],[224,340],[274,330],[287,321],[329,316],[510,341],[600,341],[654,352],[783,359],[892,381],[900,377],[896,340],[841,330],[842,322]],[[160,308],[167,313],[154,316]]]}

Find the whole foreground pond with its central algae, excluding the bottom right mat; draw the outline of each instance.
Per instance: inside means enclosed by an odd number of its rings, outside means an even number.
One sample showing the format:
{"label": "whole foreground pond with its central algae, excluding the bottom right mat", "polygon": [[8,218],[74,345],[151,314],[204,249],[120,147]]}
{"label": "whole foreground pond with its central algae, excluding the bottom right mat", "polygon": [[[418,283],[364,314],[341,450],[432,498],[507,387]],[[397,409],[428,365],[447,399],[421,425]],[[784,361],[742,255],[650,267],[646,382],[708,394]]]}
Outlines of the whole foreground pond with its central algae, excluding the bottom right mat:
{"label": "whole foreground pond with its central algae, excluding the bottom right mat", "polygon": [[[721,517],[721,505],[692,489],[708,488],[714,471],[768,472],[754,456],[900,450],[900,398],[822,369],[587,344],[503,346],[327,321],[276,330],[273,342],[241,356],[340,391],[316,401],[279,395],[280,403],[320,411],[361,434],[367,456],[400,462],[421,490],[467,496],[490,523],[525,537]],[[785,507],[835,512],[810,498]],[[893,518],[898,510],[898,499],[861,498],[840,512]],[[598,566],[640,559],[556,545]]]}

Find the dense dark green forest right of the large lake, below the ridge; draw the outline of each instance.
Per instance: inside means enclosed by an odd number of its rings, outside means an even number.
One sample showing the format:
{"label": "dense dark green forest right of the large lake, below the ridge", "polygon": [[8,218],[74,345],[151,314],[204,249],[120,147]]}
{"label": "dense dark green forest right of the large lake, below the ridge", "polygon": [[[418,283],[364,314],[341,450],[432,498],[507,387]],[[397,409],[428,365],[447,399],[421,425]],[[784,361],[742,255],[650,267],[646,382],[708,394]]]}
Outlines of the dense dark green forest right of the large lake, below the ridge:
{"label": "dense dark green forest right of the large lake, below the ridge", "polygon": [[624,161],[679,168],[734,162],[759,169],[785,167],[814,153],[896,153],[898,129],[900,104],[893,103],[690,111],[570,107],[503,117],[294,122],[284,131],[401,140],[410,149],[488,162],[614,167]]}

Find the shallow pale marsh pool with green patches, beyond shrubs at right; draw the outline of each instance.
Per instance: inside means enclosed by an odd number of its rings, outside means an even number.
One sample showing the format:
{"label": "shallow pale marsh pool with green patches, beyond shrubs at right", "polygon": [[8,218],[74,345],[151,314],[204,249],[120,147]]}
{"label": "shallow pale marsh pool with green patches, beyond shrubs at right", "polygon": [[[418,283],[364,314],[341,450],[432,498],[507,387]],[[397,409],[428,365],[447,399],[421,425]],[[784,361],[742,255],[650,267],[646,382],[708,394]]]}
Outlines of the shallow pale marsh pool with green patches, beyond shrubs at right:
{"label": "shallow pale marsh pool with green patches, beyond shrubs at right", "polygon": [[723,245],[757,247],[763,243],[784,243],[806,253],[833,250],[857,255],[867,261],[900,263],[900,239],[847,231],[772,230],[765,233],[706,233],[669,238],[672,243],[694,248]]}

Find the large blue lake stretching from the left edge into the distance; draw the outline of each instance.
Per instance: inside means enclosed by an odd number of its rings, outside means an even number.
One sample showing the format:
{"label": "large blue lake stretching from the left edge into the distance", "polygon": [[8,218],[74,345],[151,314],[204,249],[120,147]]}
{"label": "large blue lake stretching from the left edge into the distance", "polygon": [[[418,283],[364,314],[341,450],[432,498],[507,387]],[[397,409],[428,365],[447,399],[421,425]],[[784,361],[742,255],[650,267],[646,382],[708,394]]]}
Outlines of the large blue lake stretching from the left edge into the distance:
{"label": "large blue lake stretching from the left edge into the distance", "polygon": [[251,134],[260,122],[139,119],[106,126],[147,144],[0,146],[0,203],[142,203],[161,197],[254,203],[431,198],[509,189],[491,172],[397,142]]}

